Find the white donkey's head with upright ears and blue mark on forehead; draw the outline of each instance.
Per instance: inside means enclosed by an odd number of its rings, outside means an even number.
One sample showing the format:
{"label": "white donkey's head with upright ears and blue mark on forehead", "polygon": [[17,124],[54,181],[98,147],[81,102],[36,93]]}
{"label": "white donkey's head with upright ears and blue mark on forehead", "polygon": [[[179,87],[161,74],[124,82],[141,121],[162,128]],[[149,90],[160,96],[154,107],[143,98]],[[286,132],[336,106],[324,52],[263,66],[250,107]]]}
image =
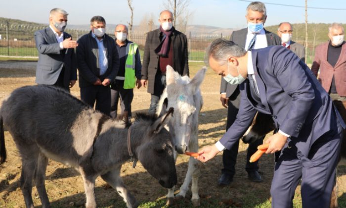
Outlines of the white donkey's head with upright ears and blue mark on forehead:
{"label": "white donkey's head with upright ears and blue mark on forehead", "polygon": [[[173,107],[173,118],[169,122],[169,131],[173,137],[175,150],[183,154],[189,145],[192,131],[197,134],[198,113],[202,105],[200,85],[204,79],[206,68],[199,70],[190,80],[181,77],[171,66],[167,66],[167,95],[163,101],[160,114]],[[165,95],[163,95],[165,96]]]}

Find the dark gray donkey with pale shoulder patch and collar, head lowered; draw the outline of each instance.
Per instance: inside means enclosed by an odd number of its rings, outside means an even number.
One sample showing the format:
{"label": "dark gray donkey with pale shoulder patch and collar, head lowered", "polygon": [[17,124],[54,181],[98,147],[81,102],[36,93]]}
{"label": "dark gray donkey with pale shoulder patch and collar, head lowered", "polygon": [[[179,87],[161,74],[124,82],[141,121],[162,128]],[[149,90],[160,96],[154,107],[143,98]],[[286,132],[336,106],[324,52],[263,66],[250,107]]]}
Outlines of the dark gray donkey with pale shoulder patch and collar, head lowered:
{"label": "dark gray donkey with pale shoulder patch and collar, head lowered", "polygon": [[171,136],[164,128],[172,113],[173,108],[161,117],[139,113],[131,125],[95,111],[63,90],[22,87],[14,90],[0,108],[0,164],[6,159],[4,124],[22,157],[20,188],[26,207],[34,207],[33,181],[43,208],[49,207],[44,186],[47,158],[74,166],[81,173],[87,208],[96,207],[94,186],[98,176],[118,191],[129,208],[137,207],[119,175],[120,168],[133,154],[132,158],[138,159],[163,187],[176,184]]}

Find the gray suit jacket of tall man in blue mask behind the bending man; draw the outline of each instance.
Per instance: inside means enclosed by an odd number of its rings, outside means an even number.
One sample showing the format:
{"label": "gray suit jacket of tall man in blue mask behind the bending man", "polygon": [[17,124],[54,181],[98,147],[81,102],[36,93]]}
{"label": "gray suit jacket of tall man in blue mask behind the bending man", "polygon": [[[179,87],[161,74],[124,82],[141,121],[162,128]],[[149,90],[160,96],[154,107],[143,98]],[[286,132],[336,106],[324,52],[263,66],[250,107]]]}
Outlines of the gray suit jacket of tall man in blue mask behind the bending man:
{"label": "gray suit jacket of tall man in blue mask behind the bending man", "polygon": [[[265,36],[267,38],[267,44],[268,46],[275,46],[275,45],[281,45],[281,38],[274,33],[271,33],[269,31],[266,31],[264,29]],[[245,48],[246,44],[246,36],[248,34],[248,28],[244,28],[241,30],[233,31],[230,41],[233,41],[234,43],[238,44],[240,47]],[[229,98],[233,92],[237,89],[238,85],[231,85],[228,84],[222,77],[221,77],[221,86],[220,86],[220,93],[226,93],[226,97]]]}

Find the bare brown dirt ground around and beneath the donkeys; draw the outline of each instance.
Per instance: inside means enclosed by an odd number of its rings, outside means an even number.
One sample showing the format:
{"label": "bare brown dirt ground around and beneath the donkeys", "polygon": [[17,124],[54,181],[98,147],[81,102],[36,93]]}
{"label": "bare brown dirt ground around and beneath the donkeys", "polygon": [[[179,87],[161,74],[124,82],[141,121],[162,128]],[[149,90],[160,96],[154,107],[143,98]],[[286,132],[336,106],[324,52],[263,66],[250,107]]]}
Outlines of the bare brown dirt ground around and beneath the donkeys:
{"label": "bare brown dirt ground around and beneath the donkeys", "polygon": [[[203,63],[191,63],[190,66],[191,77],[193,77]],[[201,86],[204,105],[199,117],[200,147],[215,143],[225,132],[227,112],[219,101],[219,82],[219,76],[209,69]],[[35,63],[0,61],[0,103],[14,89],[25,85],[35,85]],[[78,86],[74,86],[71,93],[80,98]],[[146,89],[135,89],[132,102],[133,112],[146,111],[149,104],[150,95]],[[5,132],[5,142],[7,161],[0,166],[0,207],[22,208],[25,207],[25,204],[19,188],[21,160],[11,135],[7,131]],[[206,164],[200,163],[201,175],[198,184],[201,207],[270,207],[269,190],[273,175],[273,156],[264,155],[260,160],[259,171],[263,182],[250,182],[245,171],[247,145],[240,143],[236,175],[230,186],[217,186],[217,179],[222,167],[221,154]],[[177,187],[180,187],[183,182],[187,162],[188,156],[178,156],[176,162]],[[141,203],[140,207],[163,207],[165,205],[164,198],[167,190],[161,187],[158,181],[149,175],[140,164],[133,169],[132,163],[125,163],[121,175],[129,190]],[[80,207],[85,203],[82,177],[71,167],[49,160],[45,184],[52,207]],[[101,178],[96,179],[95,195],[98,207],[125,207],[122,198]],[[33,189],[32,196],[35,206],[41,207],[36,188]],[[346,201],[345,165],[338,168],[338,196],[342,203]],[[187,199],[175,207],[191,207],[190,198],[191,193],[188,192]],[[300,187],[296,191],[295,204],[297,204],[295,207],[300,207]]]}

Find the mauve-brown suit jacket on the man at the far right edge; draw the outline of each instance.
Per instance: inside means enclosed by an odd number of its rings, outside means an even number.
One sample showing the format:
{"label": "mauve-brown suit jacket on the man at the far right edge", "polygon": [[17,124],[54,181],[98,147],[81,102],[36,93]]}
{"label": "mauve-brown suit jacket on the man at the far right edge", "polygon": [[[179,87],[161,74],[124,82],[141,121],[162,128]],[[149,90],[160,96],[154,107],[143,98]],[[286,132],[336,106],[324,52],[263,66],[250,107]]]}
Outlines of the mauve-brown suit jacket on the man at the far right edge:
{"label": "mauve-brown suit jacket on the man at the far right edge", "polygon": [[330,90],[334,76],[337,93],[340,96],[346,96],[346,44],[343,43],[339,59],[334,67],[327,61],[328,45],[329,42],[326,42],[316,47],[311,71],[317,77],[318,69],[320,70],[318,81],[327,92]]}

